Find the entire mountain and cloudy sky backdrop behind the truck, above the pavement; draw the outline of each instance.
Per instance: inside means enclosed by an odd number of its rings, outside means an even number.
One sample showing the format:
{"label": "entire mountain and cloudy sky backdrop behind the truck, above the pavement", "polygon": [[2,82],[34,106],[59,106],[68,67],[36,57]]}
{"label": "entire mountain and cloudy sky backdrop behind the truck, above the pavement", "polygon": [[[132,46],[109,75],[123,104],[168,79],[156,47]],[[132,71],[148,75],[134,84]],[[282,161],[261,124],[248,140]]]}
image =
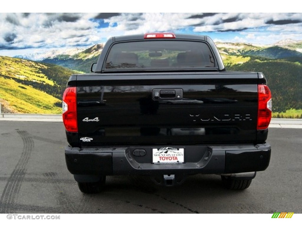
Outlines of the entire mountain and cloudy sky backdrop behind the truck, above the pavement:
{"label": "entire mountain and cloudy sky backdrop behind the truck, above the pavement", "polygon": [[72,73],[88,72],[111,36],[210,36],[228,70],[261,71],[275,117],[302,115],[302,13],[0,13],[2,112],[60,113]]}

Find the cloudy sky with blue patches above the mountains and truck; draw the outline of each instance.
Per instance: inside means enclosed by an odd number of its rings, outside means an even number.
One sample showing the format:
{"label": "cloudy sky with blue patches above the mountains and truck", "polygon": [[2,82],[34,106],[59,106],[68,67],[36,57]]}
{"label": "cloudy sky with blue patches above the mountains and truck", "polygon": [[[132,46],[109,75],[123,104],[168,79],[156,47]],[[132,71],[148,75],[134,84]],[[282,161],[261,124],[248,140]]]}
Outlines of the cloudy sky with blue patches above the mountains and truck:
{"label": "cloudy sky with blue patches above the mountains and truck", "polygon": [[155,31],[267,45],[302,40],[302,13],[0,13],[0,55],[88,47]]}

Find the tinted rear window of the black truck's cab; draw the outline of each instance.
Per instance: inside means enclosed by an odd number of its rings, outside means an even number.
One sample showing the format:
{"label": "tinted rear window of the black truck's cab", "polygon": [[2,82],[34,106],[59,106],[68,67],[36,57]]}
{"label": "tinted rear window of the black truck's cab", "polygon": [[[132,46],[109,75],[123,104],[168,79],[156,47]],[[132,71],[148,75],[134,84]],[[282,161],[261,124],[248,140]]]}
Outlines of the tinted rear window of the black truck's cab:
{"label": "tinted rear window of the black truck's cab", "polygon": [[111,46],[106,70],[215,68],[215,59],[205,42],[148,40]]}

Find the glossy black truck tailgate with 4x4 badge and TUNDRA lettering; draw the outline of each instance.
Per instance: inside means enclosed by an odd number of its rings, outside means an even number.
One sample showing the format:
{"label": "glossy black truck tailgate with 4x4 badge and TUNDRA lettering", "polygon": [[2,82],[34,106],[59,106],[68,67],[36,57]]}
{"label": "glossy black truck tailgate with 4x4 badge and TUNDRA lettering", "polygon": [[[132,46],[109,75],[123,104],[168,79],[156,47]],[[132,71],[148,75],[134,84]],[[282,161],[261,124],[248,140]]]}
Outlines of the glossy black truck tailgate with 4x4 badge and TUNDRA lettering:
{"label": "glossy black truck tailgate with 4x4 badge and TUNDRA lettering", "polygon": [[79,143],[254,143],[257,84],[246,72],[77,75]]}

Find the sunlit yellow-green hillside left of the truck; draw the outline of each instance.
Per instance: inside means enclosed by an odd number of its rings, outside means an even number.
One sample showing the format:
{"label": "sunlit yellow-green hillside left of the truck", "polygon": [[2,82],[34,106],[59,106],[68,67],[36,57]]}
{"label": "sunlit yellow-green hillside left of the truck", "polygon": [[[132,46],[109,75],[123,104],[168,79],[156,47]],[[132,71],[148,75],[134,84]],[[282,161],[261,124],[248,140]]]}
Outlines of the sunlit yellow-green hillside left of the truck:
{"label": "sunlit yellow-green hillside left of the truck", "polygon": [[61,99],[74,71],[46,63],[0,56],[2,112],[61,113]]}

